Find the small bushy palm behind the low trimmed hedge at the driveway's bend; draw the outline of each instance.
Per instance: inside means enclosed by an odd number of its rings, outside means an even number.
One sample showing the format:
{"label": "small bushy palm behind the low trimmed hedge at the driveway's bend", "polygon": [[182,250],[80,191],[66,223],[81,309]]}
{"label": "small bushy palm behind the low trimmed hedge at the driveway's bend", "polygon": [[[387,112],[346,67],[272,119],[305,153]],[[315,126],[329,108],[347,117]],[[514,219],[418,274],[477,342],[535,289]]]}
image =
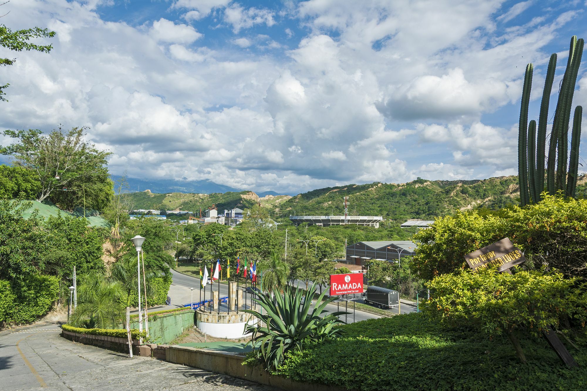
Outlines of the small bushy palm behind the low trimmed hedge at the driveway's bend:
{"label": "small bushy palm behind the low trimmed hedge at the driveway's bend", "polygon": [[70,323],[85,328],[118,328],[124,308],[123,294],[118,282],[109,281],[102,274],[92,272],[79,279],[78,305]]}

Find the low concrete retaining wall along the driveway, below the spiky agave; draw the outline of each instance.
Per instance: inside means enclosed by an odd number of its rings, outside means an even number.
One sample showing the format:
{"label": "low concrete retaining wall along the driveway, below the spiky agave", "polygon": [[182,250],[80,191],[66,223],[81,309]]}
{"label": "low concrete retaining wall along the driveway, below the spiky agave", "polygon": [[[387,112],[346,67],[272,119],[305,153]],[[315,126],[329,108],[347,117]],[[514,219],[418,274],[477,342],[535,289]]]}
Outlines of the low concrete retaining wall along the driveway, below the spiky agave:
{"label": "low concrete retaining wall along the driveway, below the spiky agave", "polygon": [[325,386],[312,383],[299,383],[281,376],[272,376],[260,367],[252,368],[242,365],[245,356],[235,353],[211,352],[187,346],[173,345],[166,348],[166,361],[176,364],[193,366],[210,370],[211,372],[224,373],[225,375],[238,377],[255,383],[278,387],[288,391],[346,391],[333,386]]}

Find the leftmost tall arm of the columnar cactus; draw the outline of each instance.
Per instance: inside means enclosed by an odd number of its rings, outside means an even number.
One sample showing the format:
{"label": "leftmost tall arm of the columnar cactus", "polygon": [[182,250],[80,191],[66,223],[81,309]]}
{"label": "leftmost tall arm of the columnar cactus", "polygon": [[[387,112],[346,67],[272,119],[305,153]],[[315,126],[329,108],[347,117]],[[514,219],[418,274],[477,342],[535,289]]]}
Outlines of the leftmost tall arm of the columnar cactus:
{"label": "leftmost tall arm of the columnar cactus", "polygon": [[527,143],[528,143],[528,105],[530,103],[530,91],[532,89],[532,73],[534,67],[532,64],[526,66],[524,75],[524,88],[522,89],[522,103],[519,110],[519,127],[518,127],[518,181],[519,181],[519,201],[522,206],[529,202],[528,194],[528,161],[527,161]]}

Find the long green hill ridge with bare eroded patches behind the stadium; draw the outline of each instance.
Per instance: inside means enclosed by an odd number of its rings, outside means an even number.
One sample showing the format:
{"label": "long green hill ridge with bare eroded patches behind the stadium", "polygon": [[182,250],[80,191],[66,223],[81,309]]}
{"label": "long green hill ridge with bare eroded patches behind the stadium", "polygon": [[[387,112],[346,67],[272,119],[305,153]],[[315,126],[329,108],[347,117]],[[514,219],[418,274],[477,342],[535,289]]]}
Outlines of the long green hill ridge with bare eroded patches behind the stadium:
{"label": "long green hill ridge with bare eroded patches behind the stadium", "polygon": [[[289,215],[342,215],[343,197],[349,196],[349,215],[380,215],[384,218],[434,218],[456,210],[487,207],[498,209],[518,204],[518,177],[483,180],[428,181],[421,178],[409,183],[349,184],[326,187],[295,197],[259,198],[252,191],[186,194],[154,194],[149,190],[129,193],[133,208],[187,210],[196,213],[212,204],[218,210],[250,208],[257,202],[272,210],[276,217]],[[577,195],[587,197],[587,174],[579,177]]]}

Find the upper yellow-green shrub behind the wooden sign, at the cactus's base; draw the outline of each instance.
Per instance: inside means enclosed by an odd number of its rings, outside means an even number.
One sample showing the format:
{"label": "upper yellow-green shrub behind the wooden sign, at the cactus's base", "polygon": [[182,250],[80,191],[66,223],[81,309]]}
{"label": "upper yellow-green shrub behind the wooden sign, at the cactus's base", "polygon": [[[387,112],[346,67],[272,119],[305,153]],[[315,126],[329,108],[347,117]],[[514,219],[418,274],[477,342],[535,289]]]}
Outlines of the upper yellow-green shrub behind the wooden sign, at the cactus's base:
{"label": "upper yellow-green shrub behind the wooden sign, at the cactus's base", "polygon": [[524,251],[525,269],[555,268],[587,277],[587,200],[545,195],[537,204],[498,212],[468,211],[437,218],[414,235],[412,271],[430,281],[468,268],[463,256],[509,237]]}

